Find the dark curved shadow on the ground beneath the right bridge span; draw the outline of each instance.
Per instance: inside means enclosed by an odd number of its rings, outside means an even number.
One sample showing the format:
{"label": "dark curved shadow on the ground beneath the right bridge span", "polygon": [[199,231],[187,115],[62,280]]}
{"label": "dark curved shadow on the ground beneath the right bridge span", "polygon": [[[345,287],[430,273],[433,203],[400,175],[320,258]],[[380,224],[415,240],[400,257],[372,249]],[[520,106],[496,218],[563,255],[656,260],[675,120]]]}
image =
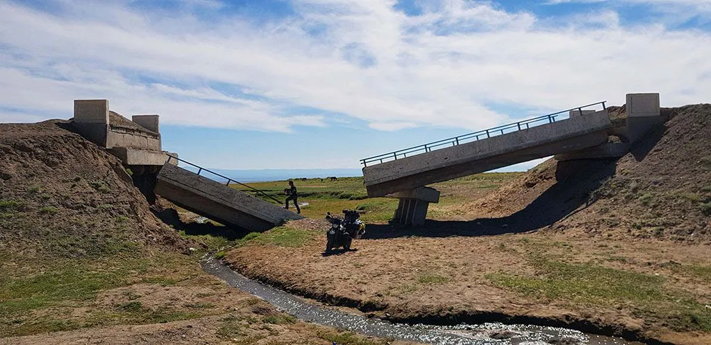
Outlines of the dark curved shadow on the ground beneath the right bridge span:
{"label": "dark curved shadow on the ground beneath the right bridge span", "polygon": [[472,221],[427,220],[422,227],[402,228],[389,224],[368,224],[364,239],[390,239],[402,236],[492,236],[518,234],[550,226],[592,203],[597,190],[616,171],[616,159],[570,160],[558,162],[556,183],[527,207],[501,218]]}

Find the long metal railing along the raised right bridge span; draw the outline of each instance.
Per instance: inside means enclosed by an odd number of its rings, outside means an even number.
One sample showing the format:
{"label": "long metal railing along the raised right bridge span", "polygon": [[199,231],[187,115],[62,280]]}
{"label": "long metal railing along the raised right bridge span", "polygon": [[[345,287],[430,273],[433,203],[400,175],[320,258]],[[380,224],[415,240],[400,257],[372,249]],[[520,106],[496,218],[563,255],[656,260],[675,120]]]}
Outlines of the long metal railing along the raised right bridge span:
{"label": "long metal railing along the raised right bridge span", "polygon": [[[558,111],[557,113],[552,113],[552,114],[547,114],[543,116],[538,116],[533,119],[527,119],[523,121],[518,121],[513,124],[506,124],[503,126],[498,126],[498,127],[493,127],[493,128],[488,128],[483,131],[478,131],[474,133],[467,133],[461,136],[455,136],[453,138],[447,138],[447,139],[442,139],[439,141],[433,141],[432,143],[426,143],[424,145],[419,145],[419,146],[412,146],[411,148],[403,148],[402,150],[397,150],[394,152],[390,153],[383,153],[382,155],[374,155],[373,157],[368,157],[368,158],[363,158],[360,160],[360,164],[363,164],[364,166],[368,166],[368,163],[373,163],[379,164],[379,163],[384,163],[390,160],[397,160],[398,158],[407,158],[407,155],[413,155],[413,154],[420,154],[420,153],[427,153],[432,151],[433,149],[439,149],[439,148],[444,148],[444,147],[450,147],[450,146],[457,146],[463,143],[471,143],[473,141],[479,141],[479,139],[486,139],[486,138],[491,138],[492,136],[499,136],[503,135],[505,133],[513,133],[516,131],[521,131],[523,129],[528,129],[531,127],[535,126],[541,126],[543,124],[552,124],[555,122],[555,118],[557,116],[560,116],[560,114],[563,113],[568,113],[570,111],[580,111],[580,114],[583,114],[583,109],[590,107],[590,106],[597,106],[598,104],[602,104],[602,109],[606,109],[605,103],[607,101],[602,101],[602,102],[597,102],[593,104],[587,104],[584,106],[576,106],[571,109],[566,109],[562,111]],[[444,146],[444,147],[443,147]],[[371,164],[373,165],[373,164]]]}

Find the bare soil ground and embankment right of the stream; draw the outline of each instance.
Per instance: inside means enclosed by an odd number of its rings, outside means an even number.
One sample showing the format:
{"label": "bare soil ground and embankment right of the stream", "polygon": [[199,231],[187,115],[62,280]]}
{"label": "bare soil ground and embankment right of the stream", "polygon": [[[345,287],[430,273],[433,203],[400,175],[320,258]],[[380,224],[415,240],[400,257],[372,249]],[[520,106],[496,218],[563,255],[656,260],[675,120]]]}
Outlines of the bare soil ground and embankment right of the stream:
{"label": "bare soil ground and embankment right of the stream", "polygon": [[[674,115],[665,128],[620,160],[548,161],[422,228],[368,224],[357,251],[322,256],[326,224],[295,221],[226,260],[397,321],[530,322],[711,344],[711,105],[664,111]],[[624,119],[624,108],[614,114]]]}

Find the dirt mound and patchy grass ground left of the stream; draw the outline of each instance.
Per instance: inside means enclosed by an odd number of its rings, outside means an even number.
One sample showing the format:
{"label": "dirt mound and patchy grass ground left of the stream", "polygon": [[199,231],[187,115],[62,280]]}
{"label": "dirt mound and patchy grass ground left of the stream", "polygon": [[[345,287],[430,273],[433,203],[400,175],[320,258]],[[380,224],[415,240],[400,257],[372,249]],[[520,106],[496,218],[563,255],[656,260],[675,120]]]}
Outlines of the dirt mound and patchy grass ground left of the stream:
{"label": "dirt mound and patchy grass ground left of the stream", "polygon": [[69,129],[0,124],[0,344],[385,343],[301,322],[203,272],[187,255],[199,243]]}

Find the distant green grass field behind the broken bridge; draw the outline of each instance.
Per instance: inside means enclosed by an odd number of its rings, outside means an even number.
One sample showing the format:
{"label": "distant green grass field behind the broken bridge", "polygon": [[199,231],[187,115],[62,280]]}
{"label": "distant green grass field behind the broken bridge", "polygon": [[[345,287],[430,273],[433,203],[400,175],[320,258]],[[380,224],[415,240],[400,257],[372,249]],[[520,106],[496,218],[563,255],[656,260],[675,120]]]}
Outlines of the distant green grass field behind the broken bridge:
{"label": "distant green grass field behind the broken bridge", "polygon": [[[430,187],[442,192],[442,197],[440,197],[439,204],[431,205],[430,212],[434,217],[451,214],[451,207],[454,205],[466,202],[467,199],[477,194],[501,187],[520,174],[521,172],[487,172],[432,185]],[[284,188],[289,187],[288,181],[285,180],[254,182],[247,185],[261,190],[279,201],[286,199]],[[366,212],[362,217],[363,221],[387,221],[392,218],[392,214],[397,208],[397,199],[368,198],[363,177],[339,177],[335,181],[319,178],[306,181],[297,179],[294,180],[294,185],[299,190],[299,203],[309,203],[301,207],[301,213],[309,218],[324,217],[326,212],[340,214],[343,209],[359,209]],[[255,192],[247,187],[230,186],[255,195]],[[269,198],[260,197],[274,202]],[[293,204],[290,204],[289,207],[294,209]]]}

